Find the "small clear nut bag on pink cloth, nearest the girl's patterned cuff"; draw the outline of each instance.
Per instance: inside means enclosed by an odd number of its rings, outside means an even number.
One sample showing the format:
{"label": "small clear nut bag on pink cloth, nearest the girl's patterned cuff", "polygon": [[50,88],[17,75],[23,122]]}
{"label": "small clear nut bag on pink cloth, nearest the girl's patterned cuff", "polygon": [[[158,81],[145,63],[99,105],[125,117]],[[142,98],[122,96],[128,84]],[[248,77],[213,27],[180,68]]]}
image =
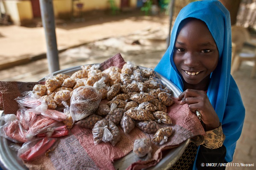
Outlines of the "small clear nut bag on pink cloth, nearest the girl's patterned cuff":
{"label": "small clear nut bag on pink cloth, nearest the girl's patterned cuff", "polygon": [[172,135],[173,131],[171,127],[163,127],[156,131],[155,136],[153,137],[153,142],[164,144],[167,142],[168,137]]}

